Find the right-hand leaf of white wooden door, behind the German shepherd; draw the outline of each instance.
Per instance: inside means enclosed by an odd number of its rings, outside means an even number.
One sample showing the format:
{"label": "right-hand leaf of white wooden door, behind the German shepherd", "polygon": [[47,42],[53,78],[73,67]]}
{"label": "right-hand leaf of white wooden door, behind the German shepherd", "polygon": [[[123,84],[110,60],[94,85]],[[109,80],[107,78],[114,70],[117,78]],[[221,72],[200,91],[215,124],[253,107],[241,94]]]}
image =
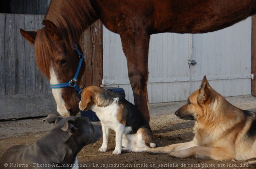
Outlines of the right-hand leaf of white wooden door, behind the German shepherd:
{"label": "right-hand leaf of white wooden door, behind the German shepherd", "polygon": [[[193,35],[191,77],[246,76],[251,74],[251,18],[223,30]],[[194,83],[194,84],[193,84]],[[210,81],[223,96],[251,94],[249,78]],[[190,93],[199,86],[192,82]]]}

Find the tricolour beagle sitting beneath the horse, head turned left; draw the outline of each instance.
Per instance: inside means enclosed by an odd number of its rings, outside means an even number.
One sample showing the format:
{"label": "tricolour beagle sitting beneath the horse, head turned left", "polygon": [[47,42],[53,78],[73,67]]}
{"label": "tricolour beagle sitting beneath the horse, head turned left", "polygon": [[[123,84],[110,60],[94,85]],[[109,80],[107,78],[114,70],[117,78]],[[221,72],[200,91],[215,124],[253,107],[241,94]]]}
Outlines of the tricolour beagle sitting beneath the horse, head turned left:
{"label": "tricolour beagle sitting beneath the horse, head turned left", "polygon": [[92,110],[102,124],[103,143],[99,152],[107,151],[109,128],[116,132],[116,147],[112,154],[143,152],[156,147],[152,131],[142,113],[119,94],[97,86],[85,88],[79,103],[80,110]]}

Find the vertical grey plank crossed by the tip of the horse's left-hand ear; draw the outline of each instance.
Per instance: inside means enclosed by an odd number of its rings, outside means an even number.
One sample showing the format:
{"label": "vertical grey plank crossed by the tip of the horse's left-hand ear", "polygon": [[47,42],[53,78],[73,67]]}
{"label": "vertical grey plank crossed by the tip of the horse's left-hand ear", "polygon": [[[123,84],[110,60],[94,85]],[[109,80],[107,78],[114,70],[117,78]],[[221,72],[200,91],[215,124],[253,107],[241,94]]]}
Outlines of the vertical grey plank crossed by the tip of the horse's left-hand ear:
{"label": "vertical grey plank crossed by the tip of the horse's left-hand ear", "polygon": [[[25,30],[35,30],[35,15],[25,15]],[[25,41],[26,94],[36,93],[35,46]]]}

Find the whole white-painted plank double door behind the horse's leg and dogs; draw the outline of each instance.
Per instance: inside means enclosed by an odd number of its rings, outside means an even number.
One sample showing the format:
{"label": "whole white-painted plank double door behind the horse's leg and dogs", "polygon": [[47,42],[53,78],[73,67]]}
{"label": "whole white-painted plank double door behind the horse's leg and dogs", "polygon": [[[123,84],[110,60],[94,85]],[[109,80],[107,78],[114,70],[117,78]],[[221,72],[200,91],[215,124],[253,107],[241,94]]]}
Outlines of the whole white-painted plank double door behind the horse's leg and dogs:
{"label": "whole white-painted plank double door behind the horse's leg and dogs", "polygon": [[[121,39],[105,27],[103,47],[104,84],[124,88],[126,99],[133,103]],[[189,66],[189,59],[197,64]],[[204,75],[223,96],[249,95],[251,18],[207,34],[151,35],[148,66],[150,103],[187,100]]]}

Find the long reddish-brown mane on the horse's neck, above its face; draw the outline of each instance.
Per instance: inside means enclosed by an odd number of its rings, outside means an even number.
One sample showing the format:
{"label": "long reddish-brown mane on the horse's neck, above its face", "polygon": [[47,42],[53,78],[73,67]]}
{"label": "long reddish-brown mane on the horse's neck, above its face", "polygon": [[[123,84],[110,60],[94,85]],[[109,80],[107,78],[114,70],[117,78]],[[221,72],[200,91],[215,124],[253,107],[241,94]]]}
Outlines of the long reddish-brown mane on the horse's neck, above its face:
{"label": "long reddish-brown mane on the horse's neck, above its face", "polygon": [[[54,0],[45,15],[58,28],[66,46],[78,43],[81,33],[96,19],[90,0]],[[69,49],[67,49],[69,50]]]}

